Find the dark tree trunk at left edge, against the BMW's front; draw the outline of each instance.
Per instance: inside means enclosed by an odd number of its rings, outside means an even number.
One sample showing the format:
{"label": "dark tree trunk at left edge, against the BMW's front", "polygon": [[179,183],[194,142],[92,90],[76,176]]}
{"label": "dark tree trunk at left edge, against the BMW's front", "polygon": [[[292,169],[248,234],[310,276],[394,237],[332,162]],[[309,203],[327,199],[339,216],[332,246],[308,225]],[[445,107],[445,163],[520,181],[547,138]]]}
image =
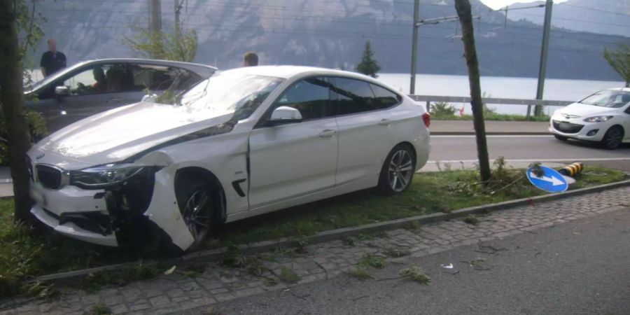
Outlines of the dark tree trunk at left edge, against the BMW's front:
{"label": "dark tree trunk at left edge, against the BMW's front", "polygon": [[15,221],[29,222],[30,179],[25,157],[31,140],[25,116],[18,21],[14,5],[15,1],[0,0],[0,103],[6,121],[9,165],[15,195]]}

